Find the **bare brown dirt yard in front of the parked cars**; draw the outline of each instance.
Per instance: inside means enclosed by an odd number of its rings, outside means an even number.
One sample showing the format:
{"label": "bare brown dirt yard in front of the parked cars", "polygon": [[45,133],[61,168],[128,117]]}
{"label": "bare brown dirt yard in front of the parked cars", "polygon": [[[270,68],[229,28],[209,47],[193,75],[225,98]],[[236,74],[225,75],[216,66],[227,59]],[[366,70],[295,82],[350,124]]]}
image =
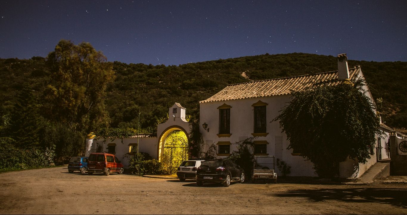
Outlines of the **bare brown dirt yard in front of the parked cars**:
{"label": "bare brown dirt yard in front of the parked cars", "polygon": [[[402,178],[406,180],[407,177]],[[407,214],[407,183],[232,183],[69,174],[66,166],[0,174],[0,214]]]}

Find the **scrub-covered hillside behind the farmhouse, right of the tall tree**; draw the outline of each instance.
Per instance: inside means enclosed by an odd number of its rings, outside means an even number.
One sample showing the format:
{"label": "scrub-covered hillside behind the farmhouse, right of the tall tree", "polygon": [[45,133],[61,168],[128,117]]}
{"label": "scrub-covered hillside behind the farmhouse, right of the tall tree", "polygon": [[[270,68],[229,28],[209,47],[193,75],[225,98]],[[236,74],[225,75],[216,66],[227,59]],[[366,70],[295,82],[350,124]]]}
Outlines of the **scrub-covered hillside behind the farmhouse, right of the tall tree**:
{"label": "scrub-covered hillside behind the farmhouse, right of the tall tree", "polygon": [[[386,124],[407,125],[407,62],[348,61],[361,65],[374,98],[383,98]],[[185,65],[125,64],[115,61],[116,80],[106,100],[111,126],[136,127],[138,110],[143,128],[153,126],[157,117],[179,102],[196,119],[199,101],[209,98],[228,84],[337,70],[334,56],[315,54],[276,54],[188,63]],[[148,99],[146,99],[148,98]],[[379,106],[381,109],[381,106]],[[155,128],[152,128],[153,132]]]}

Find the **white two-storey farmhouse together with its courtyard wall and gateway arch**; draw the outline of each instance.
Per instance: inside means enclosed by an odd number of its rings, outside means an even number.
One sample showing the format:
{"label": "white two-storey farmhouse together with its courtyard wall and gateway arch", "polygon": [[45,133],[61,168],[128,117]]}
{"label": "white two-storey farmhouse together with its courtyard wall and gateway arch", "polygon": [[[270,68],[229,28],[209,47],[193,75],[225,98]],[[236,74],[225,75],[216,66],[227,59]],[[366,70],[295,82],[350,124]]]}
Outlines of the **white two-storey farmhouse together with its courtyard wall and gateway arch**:
{"label": "white two-storey farmhouse together with its courtyard wall and gateway arch", "polygon": [[[348,68],[346,54],[338,55],[338,71],[323,72],[314,75],[294,76],[270,80],[252,81],[228,85],[207,100],[200,101],[200,132],[204,140],[201,152],[204,154],[215,146],[217,157],[225,158],[237,150],[236,143],[250,137],[254,139],[255,155],[274,155],[291,166],[289,176],[317,176],[313,163],[304,161],[299,153],[287,150],[289,142],[278,122],[270,123],[279,115],[279,111],[291,101],[291,90],[300,90],[311,84],[313,78],[324,80],[344,80],[364,78],[360,66]],[[368,87],[367,96],[372,98]],[[375,111],[375,110],[373,110]],[[87,139],[85,155],[91,152],[109,152],[121,159],[125,168],[129,167],[129,157],[136,152],[147,152],[153,159],[163,161],[172,146],[167,146],[166,138],[180,130],[189,138],[191,124],[185,119],[186,109],[175,103],[168,109],[168,120],[158,125],[156,134],[140,134],[124,139]],[[358,178],[374,163],[388,159],[389,133],[391,128],[381,123],[385,132],[383,138],[377,137],[376,152],[367,163],[361,164],[352,159],[340,163],[341,178]],[[186,153],[188,148],[185,149]],[[170,167],[174,168],[174,167]],[[175,167],[176,169],[176,167]],[[281,173],[276,168],[279,175]]]}

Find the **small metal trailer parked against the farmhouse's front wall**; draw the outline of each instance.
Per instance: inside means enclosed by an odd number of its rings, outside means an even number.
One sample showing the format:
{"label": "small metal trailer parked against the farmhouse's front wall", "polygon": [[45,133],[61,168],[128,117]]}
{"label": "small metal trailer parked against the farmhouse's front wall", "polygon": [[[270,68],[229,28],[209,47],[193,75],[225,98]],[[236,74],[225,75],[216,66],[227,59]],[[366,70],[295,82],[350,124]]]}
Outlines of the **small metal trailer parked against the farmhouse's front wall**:
{"label": "small metal trailer parked against the farmhouse's front wall", "polygon": [[254,156],[252,183],[256,180],[271,180],[272,183],[277,183],[277,173],[275,169],[275,157],[268,155]]}

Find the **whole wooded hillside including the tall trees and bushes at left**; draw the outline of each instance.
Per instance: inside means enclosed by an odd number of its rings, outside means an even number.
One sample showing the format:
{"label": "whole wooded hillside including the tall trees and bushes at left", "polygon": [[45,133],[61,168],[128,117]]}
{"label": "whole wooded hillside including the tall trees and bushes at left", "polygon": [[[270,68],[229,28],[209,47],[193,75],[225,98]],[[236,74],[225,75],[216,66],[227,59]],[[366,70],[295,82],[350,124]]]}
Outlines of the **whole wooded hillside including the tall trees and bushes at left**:
{"label": "whole wooded hillside including the tall trees and bushes at left", "polygon": [[[66,41],[60,41],[48,58],[0,59],[0,138],[13,139],[17,149],[45,150],[55,144],[55,161],[64,160],[83,152],[89,132],[108,127],[156,132],[174,102],[186,108],[190,122],[197,122],[198,102],[228,84],[249,81],[243,72],[250,80],[263,80],[337,70],[336,56],[304,53],[178,66],[105,60],[89,43],[74,46]],[[378,108],[386,124],[406,128],[407,62],[348,63],[361,65],[373,97],[383,98]],[[70,73],[72,69],[80,73]]]}

